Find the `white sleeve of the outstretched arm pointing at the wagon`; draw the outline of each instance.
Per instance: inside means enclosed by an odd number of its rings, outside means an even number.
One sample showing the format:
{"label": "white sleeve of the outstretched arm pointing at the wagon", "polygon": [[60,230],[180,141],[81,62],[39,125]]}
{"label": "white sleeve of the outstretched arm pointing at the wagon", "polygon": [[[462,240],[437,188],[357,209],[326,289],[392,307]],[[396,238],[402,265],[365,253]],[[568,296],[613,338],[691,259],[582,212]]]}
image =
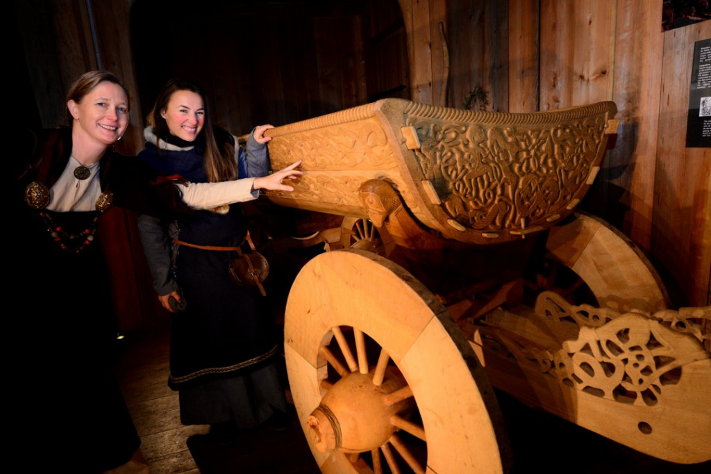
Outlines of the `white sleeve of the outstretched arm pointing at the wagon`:
{"label": "white sleeve of the outstretched arm pointing at the wagon", "polygon": [[176,186],[188,206],[193,209],[213,209],[235,202],[257,199],[260,191],[252,191],[254,181],[254,178],[244,178],[220,183],[186,183],[176,184]]}

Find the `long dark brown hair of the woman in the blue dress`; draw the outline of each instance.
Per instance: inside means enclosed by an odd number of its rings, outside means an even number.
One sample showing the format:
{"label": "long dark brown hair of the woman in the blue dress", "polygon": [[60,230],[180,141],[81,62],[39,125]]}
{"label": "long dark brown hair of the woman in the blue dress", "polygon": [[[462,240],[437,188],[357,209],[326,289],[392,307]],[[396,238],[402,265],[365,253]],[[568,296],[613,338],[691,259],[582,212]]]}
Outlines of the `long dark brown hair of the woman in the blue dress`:
{"label": "long dark brown hair of the woman in the blue dress", "polygon": [[[148,117],[146,117],[146,122],[153,127],[156,137],[160,139],[168,137],[171,132],[168,129],[168,123],[161,117],[161,112],[166,110],[171,96],[173,93],[178,92],[178,90],[189,90],[192,93],[200,95],[205,105],[205,125],[200,134],[205,137],[203,167],[205,168],[205,174],[208,176],[208,181],[218,182],[237,179],[237,162],[235,161],[236,144],[230,142],[230,139],[228,139],[229,134],[222,132],[222,130],[218,130],[217,133],[216,130],[213,130],[210,121],[208,101],[205,98],[205,93],[202,88],[196,83],[182,78],[170,79],[159,92],[151,112],[149,112]],[[217,134],[220,135],[219,145],[218,140],[215,139],[215,135]],[[222,139],[223,137],[225,139]]]}

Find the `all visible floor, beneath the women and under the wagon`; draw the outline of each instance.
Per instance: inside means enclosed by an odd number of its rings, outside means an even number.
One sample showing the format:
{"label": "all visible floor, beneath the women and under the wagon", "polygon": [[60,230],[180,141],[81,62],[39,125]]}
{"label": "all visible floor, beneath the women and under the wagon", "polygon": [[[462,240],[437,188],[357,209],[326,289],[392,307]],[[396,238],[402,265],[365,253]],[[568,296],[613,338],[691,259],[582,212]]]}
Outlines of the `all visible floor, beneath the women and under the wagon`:
{"label": "all visible floor, beneath the women and under the wagon", "polygon": [[[245,433],[215,446],[188,438],[207,426],[182,426],[178,396],[166,385],[168,332],[159,327],[121,342],[116,373],[152,474],[318,474],[292,411],[292,426]],[[510,474],[708,474],[711,464],[677,465],[643,455],[562,418],[528,409],[498,393],[513,451]],[[293,408],[293,407],[292,407]],[[190,448],[188,448],[190,446]],[[456,449],[453,446],[452,449]],[[449,473],[438,473],[449,474]]]}

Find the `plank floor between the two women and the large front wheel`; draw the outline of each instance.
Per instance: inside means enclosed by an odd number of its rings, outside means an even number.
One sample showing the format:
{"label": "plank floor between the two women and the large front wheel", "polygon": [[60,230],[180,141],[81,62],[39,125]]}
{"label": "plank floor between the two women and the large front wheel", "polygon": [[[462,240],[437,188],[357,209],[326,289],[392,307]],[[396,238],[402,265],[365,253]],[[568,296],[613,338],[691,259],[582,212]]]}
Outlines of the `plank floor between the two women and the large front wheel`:
{"label": "plank floor between the two women and the large front wheel", "polygon": [[199,436],[209,426],[181,425],[178,394],[166,384],[168,355],[168,330],[159,327],[123,339],[115,368],[152,474],[320,473],[293,405],[287,431],[257,428],[227,446]]}

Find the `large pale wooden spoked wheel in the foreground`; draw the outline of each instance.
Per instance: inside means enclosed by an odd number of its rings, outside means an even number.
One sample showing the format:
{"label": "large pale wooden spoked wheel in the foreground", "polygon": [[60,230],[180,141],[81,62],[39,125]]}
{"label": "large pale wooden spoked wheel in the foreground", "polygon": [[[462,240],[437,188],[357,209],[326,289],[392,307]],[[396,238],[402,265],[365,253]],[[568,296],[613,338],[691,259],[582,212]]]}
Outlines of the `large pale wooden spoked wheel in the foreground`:
{"label": "large pale wooden spoked wheel in the foreground", "polygon": [[444,307],[358,249],[304,265],[284,353],[323,473],[502,473],[509,451],[486,374]]}

